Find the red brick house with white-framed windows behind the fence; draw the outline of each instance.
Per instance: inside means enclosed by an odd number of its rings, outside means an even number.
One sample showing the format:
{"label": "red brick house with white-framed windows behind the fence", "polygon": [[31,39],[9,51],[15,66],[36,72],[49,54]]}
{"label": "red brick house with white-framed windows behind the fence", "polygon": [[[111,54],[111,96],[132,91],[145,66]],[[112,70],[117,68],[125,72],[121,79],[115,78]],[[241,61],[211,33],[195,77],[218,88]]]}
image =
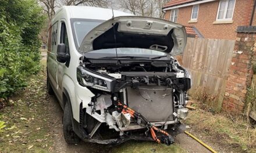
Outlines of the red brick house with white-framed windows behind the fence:
{"label": "red brick house with white-framed windows behind the fence", "polygon": [[[205,38],[236,39],[240,25],[256,25],[256,0],[170,0],[165,19],[194,27]],[[255,15],[254,15],[255,14]]]}

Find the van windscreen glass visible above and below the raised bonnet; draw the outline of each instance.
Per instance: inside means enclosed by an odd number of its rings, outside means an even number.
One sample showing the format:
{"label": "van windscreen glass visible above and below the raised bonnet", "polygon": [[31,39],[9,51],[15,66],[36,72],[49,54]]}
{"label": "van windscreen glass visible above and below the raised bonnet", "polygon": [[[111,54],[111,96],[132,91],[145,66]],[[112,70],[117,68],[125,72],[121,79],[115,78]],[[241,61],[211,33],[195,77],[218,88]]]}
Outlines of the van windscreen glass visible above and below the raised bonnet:
{"label": "van windscreen glass visible above and below the raised bonnet", "polygon": [[[92,19],[71,19],[72,31],[76,49],[78,50],[84,37],[93,30],[97,25],[103,23],[104,20],[92,20]],[[120,56],[147,56],[147,57],[158,57],[165,56],[166,53],[159,52],[151,49],[140,49],[140,48],[110,48],[101,49],[88,52],[87,56],[91,57],[106,57],[115,56],[118,53]],[[168,56],[169,57],[169,56]]]}

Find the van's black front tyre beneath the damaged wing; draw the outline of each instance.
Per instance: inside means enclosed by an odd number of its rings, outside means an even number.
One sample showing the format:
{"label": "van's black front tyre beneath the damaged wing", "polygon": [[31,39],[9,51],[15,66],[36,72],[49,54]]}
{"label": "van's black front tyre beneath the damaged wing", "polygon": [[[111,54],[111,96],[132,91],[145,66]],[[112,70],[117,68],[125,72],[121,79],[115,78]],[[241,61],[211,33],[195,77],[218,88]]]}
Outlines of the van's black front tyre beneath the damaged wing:
{"label": "van's black front tyre beneath the damaged wing", "polygon": [[74,133],[72,126],[72,114],[71,107],[69,103],[66,103],[63,114],[63,135],[66,143],[68,144],[77,144],[80,139]]}

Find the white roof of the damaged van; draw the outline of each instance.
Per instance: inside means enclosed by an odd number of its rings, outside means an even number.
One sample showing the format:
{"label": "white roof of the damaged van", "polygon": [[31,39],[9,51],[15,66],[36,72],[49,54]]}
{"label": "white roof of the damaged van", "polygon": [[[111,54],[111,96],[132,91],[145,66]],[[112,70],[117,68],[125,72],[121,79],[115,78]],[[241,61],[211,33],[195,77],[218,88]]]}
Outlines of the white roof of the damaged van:
{"label": "white roof of the damaged van", "polygon": [[[92,6],[62,6],[58,12],[64,12],[69,14],[70,18],[78,19],[96,19],[96,20],[109,20],[114,16],[133,16],[133,14],[121,12],[119,10],[96,8]],[[58,14],[58,12],[56,14]]]}

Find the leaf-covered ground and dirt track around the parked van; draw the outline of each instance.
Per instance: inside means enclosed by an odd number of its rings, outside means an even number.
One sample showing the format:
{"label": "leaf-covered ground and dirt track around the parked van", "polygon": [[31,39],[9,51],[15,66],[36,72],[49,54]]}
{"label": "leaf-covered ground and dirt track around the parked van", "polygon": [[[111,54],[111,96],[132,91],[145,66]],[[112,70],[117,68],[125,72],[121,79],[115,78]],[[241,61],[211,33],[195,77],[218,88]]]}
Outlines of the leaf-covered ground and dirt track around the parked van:
{"label": "leaf-covered ground and dirt track around the parked van", "polygon": [[[68,145],[63,138],[62,108],[55,96],[47,94],[45,68],[30,79],[29,86],[0,110],[0,121],[5,121],[7,128],[0,133],[0,152],[210,152],[184,133],[177,135],[176,143],[170,146],[142,141],[112,148],[84,142]],[[193,132],[193,128],[188,130]],[[211,137],[197,136],[218,152],[230,152],[212,142]]]}

